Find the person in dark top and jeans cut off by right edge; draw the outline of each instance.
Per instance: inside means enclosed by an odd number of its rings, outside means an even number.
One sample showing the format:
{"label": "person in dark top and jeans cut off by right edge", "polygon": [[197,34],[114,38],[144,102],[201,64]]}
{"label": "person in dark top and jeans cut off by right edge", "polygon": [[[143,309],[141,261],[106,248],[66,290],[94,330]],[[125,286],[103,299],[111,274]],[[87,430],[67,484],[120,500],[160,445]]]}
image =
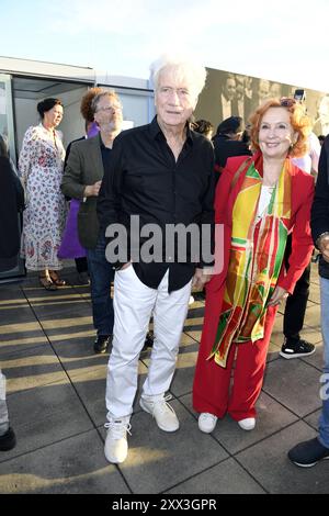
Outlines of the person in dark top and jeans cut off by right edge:
{"label": "person in dark top and jeans cut off by right edge", "polygon": [[329,459],[329,136],[322,145],[315,200],[311,209],[311,233],[320,250],[319,274],[321,290],[321,327],[325,364],[320,390],[322,412],[319,419],[319,436],[300,442],[288,452],[296,465],[315,465]]}

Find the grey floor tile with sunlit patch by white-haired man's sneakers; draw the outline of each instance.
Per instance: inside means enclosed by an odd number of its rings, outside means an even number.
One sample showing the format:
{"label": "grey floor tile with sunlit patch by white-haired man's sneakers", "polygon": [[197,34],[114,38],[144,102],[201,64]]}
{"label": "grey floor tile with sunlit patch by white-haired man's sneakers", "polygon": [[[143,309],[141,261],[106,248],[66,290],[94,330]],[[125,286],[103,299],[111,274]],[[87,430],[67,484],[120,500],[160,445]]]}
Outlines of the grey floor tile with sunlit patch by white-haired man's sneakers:
{"label": "grey floor tile with sunlit patch by white-haired man's sneakers", "polygon": [[160,430],[145,412],[132,418],[129,453],[120,469],[134,493],[161,493],[228,457],[181,404],[171,404],[181,424],[177,433]]}

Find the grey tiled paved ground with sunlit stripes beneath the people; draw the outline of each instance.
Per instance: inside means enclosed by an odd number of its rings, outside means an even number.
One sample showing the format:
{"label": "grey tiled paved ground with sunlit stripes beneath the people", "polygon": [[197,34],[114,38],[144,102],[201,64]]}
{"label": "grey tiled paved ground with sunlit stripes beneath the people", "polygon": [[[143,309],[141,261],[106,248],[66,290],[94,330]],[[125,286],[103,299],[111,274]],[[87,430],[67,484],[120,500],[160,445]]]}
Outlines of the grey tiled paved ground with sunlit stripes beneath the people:
{"label": "grey tiled paved ground with sunlit stripes beneath the people", "polygon": [[[229,417],[212,435],[197,429],[191,406],[203,302],[184,327],[173,406],[174,435],[159,430],[136,403],[129,456],[121,467],[103,456],[107,356],[92,351],[89,289],[70,282],[46,292],[35,277],[0,285],[0,359],[18,446],[0,452],[0,493],[328,493],[329,462],[302,470],[286,451],[316,435],[320,407],[319,287],[314,268],[304,337],[317,345],[308,359],[279,356],[277,316],[257,428],[246,433]],[[149,352],[140,357],[140,382]]]}

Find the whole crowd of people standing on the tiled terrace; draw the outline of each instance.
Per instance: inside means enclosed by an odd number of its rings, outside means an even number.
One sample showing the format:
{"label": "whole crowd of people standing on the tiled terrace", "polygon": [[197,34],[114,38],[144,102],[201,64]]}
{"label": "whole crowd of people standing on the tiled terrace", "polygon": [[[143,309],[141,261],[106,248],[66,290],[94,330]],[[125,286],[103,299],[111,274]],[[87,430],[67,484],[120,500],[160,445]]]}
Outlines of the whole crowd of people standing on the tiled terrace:
{"label": "whole crowd of people standing on the tiled terrace", "polygon": [[[297,445],[288,457],[304,467],[329,457],[329,136],[320,147],[303,102],[280,97],[274,85],[271,92],[269,81],[260,82],[247,123],[241,102],[249,99],[248,85],[238,79],[228,76],[220,92],[215,135],[209,122],[193,121],[205,68],[162,56],[151,66],[156,116],[149,124],[122,131],[120,97],[93,88],[81,101],[86,135],[65,152],[57,130],[63,103],[45,99],[37,104],[39,125],[24,136],[21,181],[0,139],[1,195],[8,203],[0,203],[0,213],[10,234],[0,240],[0,270],[14,267],[18,212],[23,212],[21,255],[26,269],[38,272],[41,285],[49,291],[65,285],[63,258],[76,259],[79,281],[90,282],[94,352],[106,352],[111,345],[109,462],[121,463],[128,453],[146,343],[151,351],[140,407],[163,431],[180,427],[167,392],[192,288],[205,291],[193,384],[198,428],[212,433],[227,413],[241,429],[256,427],[268,347],[283,300],[281,356],[315,351],[300,338],[314,245],[320,251],[324,405],[318,438]],[[232,96],[239,86],[243,94]],[[191,238],[185,234],[183,256],[182,234],[168,244],[168,228],[178,225],[194,232]],[[149,238],[158,229],[161,238]],[[14,444],[0,370],[0,450]]]}

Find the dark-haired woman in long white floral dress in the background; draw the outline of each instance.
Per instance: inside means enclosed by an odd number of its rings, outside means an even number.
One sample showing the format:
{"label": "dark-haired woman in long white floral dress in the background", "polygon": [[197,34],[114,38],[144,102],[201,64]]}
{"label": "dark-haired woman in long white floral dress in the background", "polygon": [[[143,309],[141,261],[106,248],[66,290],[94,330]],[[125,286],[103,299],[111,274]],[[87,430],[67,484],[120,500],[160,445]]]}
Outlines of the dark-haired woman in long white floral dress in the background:
{"label": "dark-haired woman in long white floral dress in the background", "polygon": [[39,271],[41,284],[56,290],[65,284],[56,272],[63,268],[57,251],[66,220],[60,191],[65,149],[55,131],[63,119],[63,104],[58,99],[45,99],[37,111],[42,122],[27,128],[19,161],[26,192],[21,253],[26,269]]}

